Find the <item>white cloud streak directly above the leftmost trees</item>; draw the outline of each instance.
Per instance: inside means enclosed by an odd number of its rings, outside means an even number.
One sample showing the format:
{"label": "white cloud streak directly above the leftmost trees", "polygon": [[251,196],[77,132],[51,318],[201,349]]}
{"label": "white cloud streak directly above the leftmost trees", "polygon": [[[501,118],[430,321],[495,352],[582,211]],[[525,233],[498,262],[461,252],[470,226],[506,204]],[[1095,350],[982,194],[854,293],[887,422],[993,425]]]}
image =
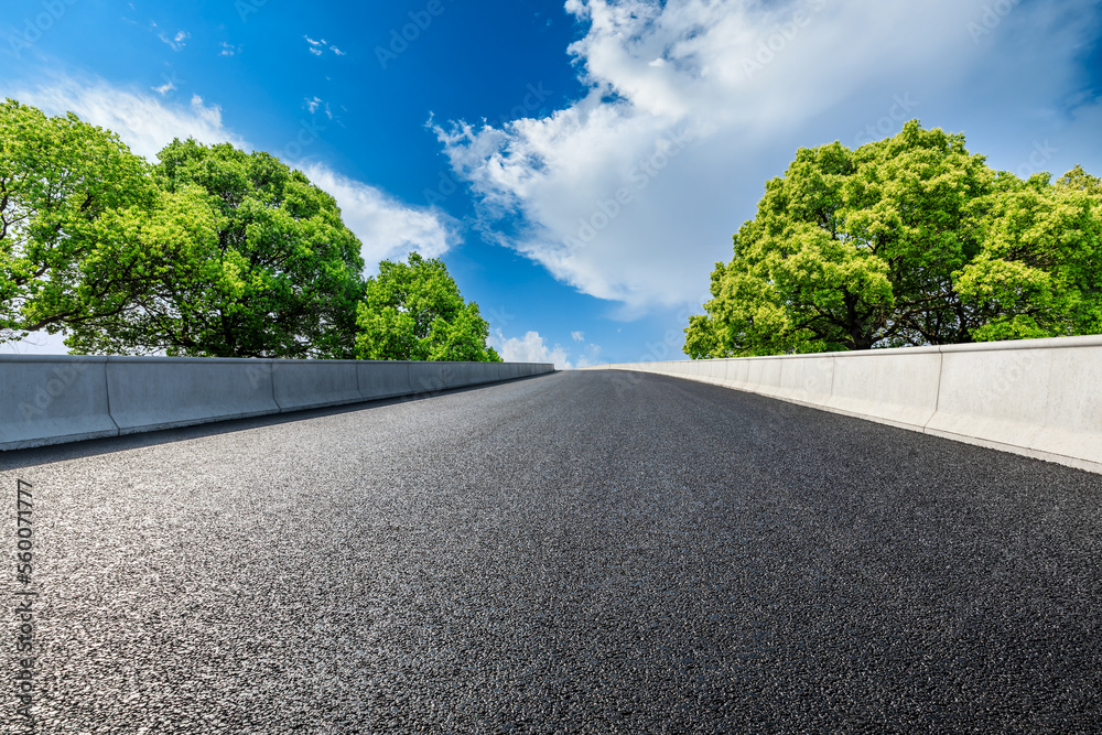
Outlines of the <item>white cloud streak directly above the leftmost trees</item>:
{"label": "white cloud streak directly above the leftmost trees", "polygon": [[248,148],[248,143],[225,127],[222,108],[205,104],[198,95],[193,95],[190,104],[181,105],[148,93],[112,87],[101,79],[73,78],[60,78],[52,86],[33,89],[6,89],[4,94],[48,115],[76,112],[87,122],[114,130],[130,150],[150,160],[155,160],[156,153],[174,138]]}

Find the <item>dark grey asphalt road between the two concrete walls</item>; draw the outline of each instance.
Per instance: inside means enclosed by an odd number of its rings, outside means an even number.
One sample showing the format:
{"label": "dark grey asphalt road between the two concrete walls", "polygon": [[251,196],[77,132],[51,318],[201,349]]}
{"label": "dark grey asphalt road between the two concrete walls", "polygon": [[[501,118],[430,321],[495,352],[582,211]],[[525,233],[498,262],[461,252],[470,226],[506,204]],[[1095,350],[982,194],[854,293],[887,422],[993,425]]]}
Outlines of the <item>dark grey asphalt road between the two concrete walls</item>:
{"label": "dark grey asphalt road between the two concrete walls", "polygon": [[0,462],[37,733],[1102,729],[1099,475],[617,372]]}

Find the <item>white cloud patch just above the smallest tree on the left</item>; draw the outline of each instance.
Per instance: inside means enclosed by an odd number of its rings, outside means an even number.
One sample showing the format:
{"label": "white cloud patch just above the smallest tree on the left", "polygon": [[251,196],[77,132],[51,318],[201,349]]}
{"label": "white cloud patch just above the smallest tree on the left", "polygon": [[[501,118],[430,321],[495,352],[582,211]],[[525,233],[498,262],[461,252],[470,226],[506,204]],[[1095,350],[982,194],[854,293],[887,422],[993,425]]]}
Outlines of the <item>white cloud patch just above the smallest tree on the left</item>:
{"label": "white cloud patch just above the smallest tree on the left", "polygon": [[411,250],[426,258],[442,256],[457,240],[451,221],[442,214],[410,207],[320,163],[299,167],[337,201],[345,225],[364,244],[361,253],[368,272],[375,272],[380,260],[404,258]]}

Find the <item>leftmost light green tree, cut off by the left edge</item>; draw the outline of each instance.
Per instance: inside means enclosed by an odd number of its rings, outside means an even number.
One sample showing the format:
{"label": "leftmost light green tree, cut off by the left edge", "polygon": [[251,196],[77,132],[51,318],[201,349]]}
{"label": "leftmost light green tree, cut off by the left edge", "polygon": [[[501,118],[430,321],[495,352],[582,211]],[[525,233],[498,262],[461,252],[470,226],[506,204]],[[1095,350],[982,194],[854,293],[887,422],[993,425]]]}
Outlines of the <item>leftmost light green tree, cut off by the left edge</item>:
{"label": "leftmost light green tree, cut off by the left edge", "polygon": [[0,341],[120,314],[172,206],[114,133],[0,105]]}

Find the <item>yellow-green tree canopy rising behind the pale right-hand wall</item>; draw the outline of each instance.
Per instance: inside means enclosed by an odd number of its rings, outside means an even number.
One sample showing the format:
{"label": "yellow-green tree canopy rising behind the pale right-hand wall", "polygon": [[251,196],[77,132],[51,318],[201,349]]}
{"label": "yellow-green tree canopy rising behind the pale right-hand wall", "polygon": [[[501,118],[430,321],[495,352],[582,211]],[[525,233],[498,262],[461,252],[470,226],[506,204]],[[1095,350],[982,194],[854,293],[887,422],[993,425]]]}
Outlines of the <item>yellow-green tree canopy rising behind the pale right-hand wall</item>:
{"label": "yellow-green tree canopy rising behind the pale right-hand wall", "polygon": [[1022,181],[908,122],[800,149],[716,263],[693,358],[954,344],[1102,327],[1102,191]]}

